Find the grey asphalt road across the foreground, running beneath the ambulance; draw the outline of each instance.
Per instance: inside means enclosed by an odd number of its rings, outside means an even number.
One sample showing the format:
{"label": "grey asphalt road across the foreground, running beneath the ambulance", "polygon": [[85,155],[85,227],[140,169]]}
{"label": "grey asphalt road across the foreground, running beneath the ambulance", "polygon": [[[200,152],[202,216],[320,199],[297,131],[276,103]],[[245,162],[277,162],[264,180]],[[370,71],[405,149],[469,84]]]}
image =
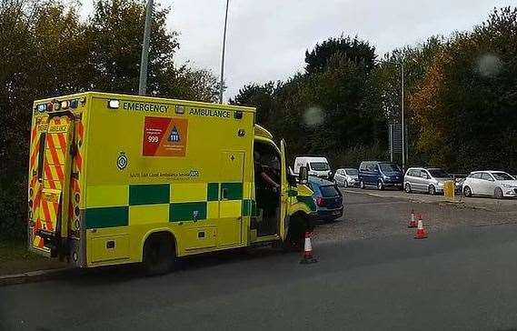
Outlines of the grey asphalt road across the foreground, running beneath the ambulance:
{"label": "grey asphalt road across the foreground, running beneath the ambulance", "polygon": [[191,258],[167,276],[112,267],[0,287],[0,330],[517,327],[512,222],[473,211],[443,226],[449,212],[427,204],[429,238],[415,240],[407,201],[346,201],[343,220],[318,227],[317,264],[260,248]]}

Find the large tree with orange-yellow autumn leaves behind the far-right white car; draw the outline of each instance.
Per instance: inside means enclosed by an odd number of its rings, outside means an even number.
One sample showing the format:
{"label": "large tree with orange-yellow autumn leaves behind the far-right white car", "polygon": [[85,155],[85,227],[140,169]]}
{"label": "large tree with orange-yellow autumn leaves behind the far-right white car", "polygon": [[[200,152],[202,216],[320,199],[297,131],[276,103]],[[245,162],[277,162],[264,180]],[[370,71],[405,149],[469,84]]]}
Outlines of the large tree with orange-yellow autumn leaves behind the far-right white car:
{"label": "large tree with orange-yellow autumn leaves behind the far-right white car", "polygon": [[495,9],[443,46],[411,98],[418,148],[436,165],[517,170],[517,9]]}

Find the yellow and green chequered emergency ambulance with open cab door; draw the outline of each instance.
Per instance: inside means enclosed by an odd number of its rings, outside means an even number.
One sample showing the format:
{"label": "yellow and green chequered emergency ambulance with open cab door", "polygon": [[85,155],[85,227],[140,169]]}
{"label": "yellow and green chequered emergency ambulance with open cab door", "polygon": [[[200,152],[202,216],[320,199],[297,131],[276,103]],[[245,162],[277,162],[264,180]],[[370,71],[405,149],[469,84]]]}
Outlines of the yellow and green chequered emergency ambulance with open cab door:
{"label": "yellow and green chequered emergency ambulance with open cab door", "polygon": [[313,227],[306,169],[254,108],[87,92],[36,101],[29,246],[80,267],[300,245]]}

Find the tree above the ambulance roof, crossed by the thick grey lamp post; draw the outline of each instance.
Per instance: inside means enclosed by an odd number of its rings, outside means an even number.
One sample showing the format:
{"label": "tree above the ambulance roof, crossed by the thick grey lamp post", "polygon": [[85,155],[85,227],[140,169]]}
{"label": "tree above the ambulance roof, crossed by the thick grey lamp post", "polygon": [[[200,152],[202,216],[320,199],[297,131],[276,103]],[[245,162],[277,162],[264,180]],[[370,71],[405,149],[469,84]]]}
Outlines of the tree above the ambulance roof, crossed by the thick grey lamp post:
{"label": "tree above the ambulance roof, crossed by the thick grey lamp post", "polygon": [[[176,34],[166,29],[168,9],[154,6],[148,65],[150,95],[163,93],[164,75],[174,70]],[[136,94],[144,40],[145,6],[134,0],[97,0],[86,28],[91,85],[101,91]]]}

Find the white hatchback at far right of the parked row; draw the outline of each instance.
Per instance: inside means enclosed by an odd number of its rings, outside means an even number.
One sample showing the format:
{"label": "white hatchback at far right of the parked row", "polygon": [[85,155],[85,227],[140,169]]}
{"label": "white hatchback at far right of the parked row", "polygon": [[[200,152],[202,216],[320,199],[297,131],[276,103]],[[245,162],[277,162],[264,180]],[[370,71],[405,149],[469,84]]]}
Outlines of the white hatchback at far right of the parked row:
{"label": "white hatchback at far right of the parked row", "polygon": [[474,171],[463,182],[463,196],[517,196],[517,180],[503,171]]}

